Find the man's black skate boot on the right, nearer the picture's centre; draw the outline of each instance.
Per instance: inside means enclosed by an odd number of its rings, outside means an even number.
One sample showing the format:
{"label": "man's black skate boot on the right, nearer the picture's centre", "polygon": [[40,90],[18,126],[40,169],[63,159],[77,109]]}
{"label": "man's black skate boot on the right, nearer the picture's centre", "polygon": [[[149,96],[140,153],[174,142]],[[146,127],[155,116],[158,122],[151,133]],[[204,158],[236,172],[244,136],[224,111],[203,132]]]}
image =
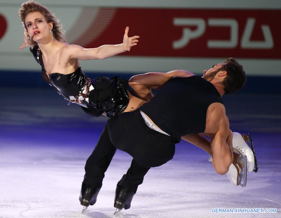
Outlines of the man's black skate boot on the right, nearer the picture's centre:
{"label": "man's black skate boot on the right, nearer the picture's centre", "polygon": [[123,208],[125,210],[129,209],[131,207],[133,197],[134,192],[117,184],[115,191],[114,207],[119,210],[122,210]]}

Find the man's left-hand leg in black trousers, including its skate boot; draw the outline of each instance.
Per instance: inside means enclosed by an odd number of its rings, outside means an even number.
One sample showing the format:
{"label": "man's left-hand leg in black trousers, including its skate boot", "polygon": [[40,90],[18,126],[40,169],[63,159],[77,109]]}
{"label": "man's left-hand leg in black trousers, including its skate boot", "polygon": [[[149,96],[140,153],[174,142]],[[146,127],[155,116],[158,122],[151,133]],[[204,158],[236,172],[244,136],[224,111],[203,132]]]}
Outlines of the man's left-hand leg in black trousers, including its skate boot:
{"label": "man's left-hand leg in black trousers, including its skate boot", "polygon": [[79,200],[81,205],[89,206],[96,203],[97,195],[102,186],[104,173],[106,172],[116,148],[112,145],[107,126],[101,132],[99,141],[86,161],[85,176],[82,182]]}

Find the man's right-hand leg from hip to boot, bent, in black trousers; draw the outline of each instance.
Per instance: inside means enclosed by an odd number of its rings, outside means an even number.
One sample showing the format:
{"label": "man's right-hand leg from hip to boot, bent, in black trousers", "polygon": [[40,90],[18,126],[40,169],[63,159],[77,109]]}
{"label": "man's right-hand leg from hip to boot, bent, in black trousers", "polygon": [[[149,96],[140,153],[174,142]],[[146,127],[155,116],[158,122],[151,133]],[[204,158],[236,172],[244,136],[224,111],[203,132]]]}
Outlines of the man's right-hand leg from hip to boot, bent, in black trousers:
{"label": "man's right-hand leg from hip to boot, bent, in black trousers", "polygon": [[122,113],[110,119],[108,132],[114,146],[134,158],[127,174],[117,184],[114,203],[116,208],[128,209],[150,167],[163,165],[173,158],[175,141],[149,128],[140,111]]}

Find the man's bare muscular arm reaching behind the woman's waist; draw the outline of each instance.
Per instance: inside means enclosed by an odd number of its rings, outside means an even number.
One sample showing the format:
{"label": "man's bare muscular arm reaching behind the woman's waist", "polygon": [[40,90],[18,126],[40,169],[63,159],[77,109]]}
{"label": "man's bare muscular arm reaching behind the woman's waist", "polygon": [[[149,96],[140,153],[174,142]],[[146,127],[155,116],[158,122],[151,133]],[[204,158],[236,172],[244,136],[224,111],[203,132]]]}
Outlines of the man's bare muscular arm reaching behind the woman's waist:
{"label": "man's bare muscular arm reaching behind the woman's waist", "polygon": [[142,100],[150,101],[153,97],[151,89],[160,89],[174,77],[190,76],[194,76],[194,74],[185,70],[174,70],[167,73],[150,72],[131,77],[129,85]]}

